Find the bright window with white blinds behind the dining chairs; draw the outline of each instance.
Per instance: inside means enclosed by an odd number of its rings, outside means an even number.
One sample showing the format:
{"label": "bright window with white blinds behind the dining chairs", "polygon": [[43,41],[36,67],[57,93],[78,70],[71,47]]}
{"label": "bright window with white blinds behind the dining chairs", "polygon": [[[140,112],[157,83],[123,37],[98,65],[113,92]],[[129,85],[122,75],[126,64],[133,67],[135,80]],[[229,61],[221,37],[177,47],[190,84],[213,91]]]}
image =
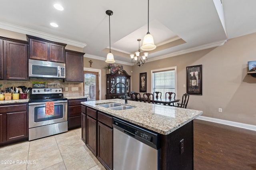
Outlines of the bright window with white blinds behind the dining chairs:
{"label": "bright window with white blinds behind the dining chairs", "polygon": [[166,92],[175,93],[176,91],[175,75],[176,75],[175,69],[153,71],[152,72],[152,93],[162,92],[162,98],[165,98]]}

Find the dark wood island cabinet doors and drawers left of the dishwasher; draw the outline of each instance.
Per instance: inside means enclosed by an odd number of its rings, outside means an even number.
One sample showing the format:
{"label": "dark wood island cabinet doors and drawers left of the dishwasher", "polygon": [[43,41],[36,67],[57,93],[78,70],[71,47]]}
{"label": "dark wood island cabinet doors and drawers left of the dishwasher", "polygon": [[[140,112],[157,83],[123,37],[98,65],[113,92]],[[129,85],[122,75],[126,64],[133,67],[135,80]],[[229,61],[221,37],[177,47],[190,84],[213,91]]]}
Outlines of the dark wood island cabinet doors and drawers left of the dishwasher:
{"label": "dark wood island cabinet doors and drawers left of the dishwasher", "polygon": [[[85,121],[86,120],[86,121]],[[82,106],[82,140],[107,170],[113,169],[112,117]]]}

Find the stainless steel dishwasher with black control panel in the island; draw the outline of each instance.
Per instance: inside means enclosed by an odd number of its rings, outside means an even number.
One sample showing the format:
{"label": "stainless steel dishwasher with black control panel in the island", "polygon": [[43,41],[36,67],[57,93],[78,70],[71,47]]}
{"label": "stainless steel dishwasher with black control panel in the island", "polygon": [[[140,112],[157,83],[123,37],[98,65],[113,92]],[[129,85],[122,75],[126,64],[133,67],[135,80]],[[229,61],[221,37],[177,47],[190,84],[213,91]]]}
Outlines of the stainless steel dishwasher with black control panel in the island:
{"label": "stainless steel dishwasher with black control panel in the island", "polygon": [[160,170],[160,135],[113,119],[114,170]]}

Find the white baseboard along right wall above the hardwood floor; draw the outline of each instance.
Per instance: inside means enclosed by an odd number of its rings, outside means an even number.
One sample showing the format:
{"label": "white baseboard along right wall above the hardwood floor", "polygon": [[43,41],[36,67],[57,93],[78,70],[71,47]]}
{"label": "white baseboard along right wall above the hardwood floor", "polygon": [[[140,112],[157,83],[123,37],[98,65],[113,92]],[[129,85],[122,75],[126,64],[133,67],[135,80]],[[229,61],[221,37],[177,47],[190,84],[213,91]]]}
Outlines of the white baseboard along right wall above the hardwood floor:
{"label": "white baseboard along right wall above the hardwood floor", "polygon": [[222,120],[222,119],[216,119],[212,117],[205,117],[205,116],[199,116],[196,119],[204,120],[204,121],[211,121],[214,123],[220,123],[224,125],[229,125],[229,126],[234,126],[234,127],[240,127],[243,129],[249,129],[252,131],[256,131],[256,125],[250,125],[250,124],[245,124],[245,123],[239,123],[235,121],[228,121],[228,120]]}

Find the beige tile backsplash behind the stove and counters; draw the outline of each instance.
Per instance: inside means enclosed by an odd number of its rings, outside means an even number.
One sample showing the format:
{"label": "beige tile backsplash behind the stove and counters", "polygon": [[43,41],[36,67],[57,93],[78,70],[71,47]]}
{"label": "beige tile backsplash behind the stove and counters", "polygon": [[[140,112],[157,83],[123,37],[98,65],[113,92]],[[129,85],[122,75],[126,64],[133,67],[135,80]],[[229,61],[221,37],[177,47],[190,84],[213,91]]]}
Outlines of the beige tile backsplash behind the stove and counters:
{"label": "beige tile backsplash behind the stove and counters", "polygon": [[[6,87],[18,87],[26,86],[32,88],[32,82],[47,82],[47,83],[60,83],[60,88],[62,88],[64,97],[73,97],[73,96],[84,96],[83,94],[83,83],[74,83],[74,82],[63,82],[61,79],[46,79],[46,78],[30,78],[29,81],[1,81],[2,87],[0,90],[4,91]],[[72,91],[72,87],[77,87],[78,91]],[[68,88],[68,91],[65,91]]]}

